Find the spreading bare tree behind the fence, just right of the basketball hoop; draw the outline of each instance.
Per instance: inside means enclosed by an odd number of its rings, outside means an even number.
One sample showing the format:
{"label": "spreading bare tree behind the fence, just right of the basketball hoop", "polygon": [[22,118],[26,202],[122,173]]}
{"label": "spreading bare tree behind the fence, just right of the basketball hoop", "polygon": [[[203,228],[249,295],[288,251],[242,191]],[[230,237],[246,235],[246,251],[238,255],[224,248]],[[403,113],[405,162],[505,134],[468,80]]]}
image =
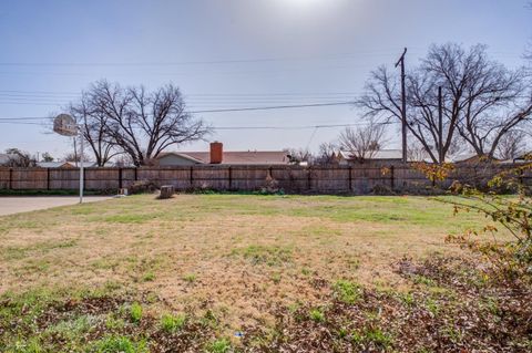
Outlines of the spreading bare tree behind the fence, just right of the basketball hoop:
{"label": "spreading bare tree behind the fence, just right of the basketball hoop", "polygon": [[[185,110],[180,90],[168,84],[154,92],[95,82],[84,107],[103,123],[104,142],[127,154],[135,166],[152,160],[171,145],[203,138],[208,127]],[[89,126],[90,127],[90,126]],[[98,131],[98,129],[96,129]]]}

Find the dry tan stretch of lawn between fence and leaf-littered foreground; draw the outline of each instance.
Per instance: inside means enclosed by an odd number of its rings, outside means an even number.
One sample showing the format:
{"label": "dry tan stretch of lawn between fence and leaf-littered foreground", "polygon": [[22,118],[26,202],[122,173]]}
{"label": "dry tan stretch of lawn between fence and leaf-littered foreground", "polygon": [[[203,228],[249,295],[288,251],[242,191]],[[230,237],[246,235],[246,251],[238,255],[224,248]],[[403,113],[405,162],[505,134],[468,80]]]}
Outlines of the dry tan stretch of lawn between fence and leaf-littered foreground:
{"label": "dry tan stretch of lawn between fence and leaf-littered foreground", "polygon": [[[458,253],[444,236],[477,225],[423,197],[134,196],[0,218],[0,293],[114,282],[175,311],[212,310],[227,330],[318,304],[348,279],[386,289],[406,257]],[[156,312],[157,305],[149,310]]]}

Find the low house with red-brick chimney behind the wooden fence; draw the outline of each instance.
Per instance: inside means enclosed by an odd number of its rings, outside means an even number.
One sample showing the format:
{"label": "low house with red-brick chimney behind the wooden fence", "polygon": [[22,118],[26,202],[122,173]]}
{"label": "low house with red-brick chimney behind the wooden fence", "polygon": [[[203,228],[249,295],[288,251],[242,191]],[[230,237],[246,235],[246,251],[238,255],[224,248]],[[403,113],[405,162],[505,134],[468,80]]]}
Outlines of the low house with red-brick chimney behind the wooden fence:
{"label": "low house with red-brick chimney behind the wooden fence", "polygon": [[209,152],[165,152],[157,158],[161,167],[193,165],[288,165],[290,163],[283,150],[224,150],[219,142],[211,143]]}

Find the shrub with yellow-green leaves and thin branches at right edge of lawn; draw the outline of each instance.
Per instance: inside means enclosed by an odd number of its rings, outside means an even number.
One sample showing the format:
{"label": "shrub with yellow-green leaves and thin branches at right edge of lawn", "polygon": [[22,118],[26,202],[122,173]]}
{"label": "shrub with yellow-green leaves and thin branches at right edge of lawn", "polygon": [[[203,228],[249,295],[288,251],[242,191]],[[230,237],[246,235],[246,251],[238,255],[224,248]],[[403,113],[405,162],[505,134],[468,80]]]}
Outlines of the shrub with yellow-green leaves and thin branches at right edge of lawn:
{"label": "shrub with yellow-green leaves and thin branches at right edge of lawn", "polygon": [[[429,178],[447,176],[444,172],[434,172],[436,167],[431,168]],[[497,238],[499,228],[487,224],[482,229],[450,235],[447,241],[482,255],[492,264],[493,279],[514,284],[532,282],[532,199],[531,188],[522,178],[531,169],[532,164],[525,164],[499,173],[488,183],[487,190],[454,181],[450,193],[456,197],[441,200],[451,204],[454,214],[477,211],[513,236],[512,241],[501,241]],[[514,190],[516,197],[501,196],[497,193],[501,189]],[[479,240],[479,235],[491,235],[493,240]]]}

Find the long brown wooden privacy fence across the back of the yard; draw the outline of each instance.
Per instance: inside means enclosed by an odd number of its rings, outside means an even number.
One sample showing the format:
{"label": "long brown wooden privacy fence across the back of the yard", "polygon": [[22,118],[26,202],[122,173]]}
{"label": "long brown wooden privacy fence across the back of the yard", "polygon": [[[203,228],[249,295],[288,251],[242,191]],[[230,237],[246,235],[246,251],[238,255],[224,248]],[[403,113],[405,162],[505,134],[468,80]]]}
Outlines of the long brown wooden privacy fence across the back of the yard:
{"label": "long brown wooden privacy fence across the back of the yard", "polygon": [[[475,184],[485,181],[507,166],[461,166],[438,186],[448,187],[456,179]],[[529,183],[532,175],[522,176]],[[389,167],[299,167],[299,166],[192,166],[141,168],[86,168],[88,190],[115,191],[135,180],[173,185],[176,190],[213,189],[253,191],[275,179],[286,193],[356,194],[387,190],[421,193],[433,186],[424,175],[409,165]],[[78,168],[0,168],[0,189],[70,190],[79,187]]]}

